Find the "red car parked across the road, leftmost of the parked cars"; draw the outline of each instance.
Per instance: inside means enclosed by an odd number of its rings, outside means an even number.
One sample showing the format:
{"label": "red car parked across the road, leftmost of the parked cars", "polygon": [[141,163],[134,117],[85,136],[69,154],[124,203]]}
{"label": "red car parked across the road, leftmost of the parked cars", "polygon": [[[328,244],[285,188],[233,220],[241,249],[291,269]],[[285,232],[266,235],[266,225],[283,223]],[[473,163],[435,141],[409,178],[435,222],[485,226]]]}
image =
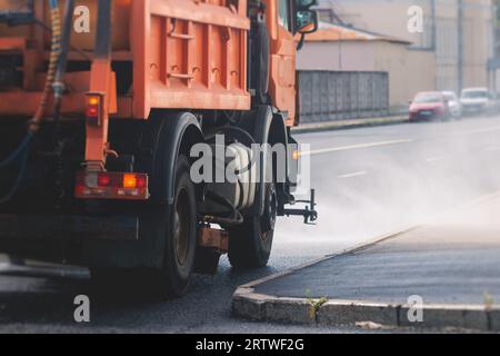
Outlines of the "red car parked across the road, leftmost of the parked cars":
{"label": "red car parked across the road, leftmost of the parked cars", "polygon": [[419,92],[410,103],[410,121],[444,120],[451,112],[442,92]]}

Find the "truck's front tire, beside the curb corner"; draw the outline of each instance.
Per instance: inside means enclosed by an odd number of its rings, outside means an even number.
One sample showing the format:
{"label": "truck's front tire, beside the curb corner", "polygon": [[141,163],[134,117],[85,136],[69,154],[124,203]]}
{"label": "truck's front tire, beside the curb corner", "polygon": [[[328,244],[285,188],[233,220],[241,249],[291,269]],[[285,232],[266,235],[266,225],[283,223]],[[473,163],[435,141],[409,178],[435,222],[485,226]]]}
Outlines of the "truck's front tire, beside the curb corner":
{"label": "truck's front tire, beside the curb corner", "polygon": [[243,225],[232,228],[229,239],[229,261],[238,269],[267,266],[271,256],[278,210],[274,184],[267,186],[264,214],[252,216]]}

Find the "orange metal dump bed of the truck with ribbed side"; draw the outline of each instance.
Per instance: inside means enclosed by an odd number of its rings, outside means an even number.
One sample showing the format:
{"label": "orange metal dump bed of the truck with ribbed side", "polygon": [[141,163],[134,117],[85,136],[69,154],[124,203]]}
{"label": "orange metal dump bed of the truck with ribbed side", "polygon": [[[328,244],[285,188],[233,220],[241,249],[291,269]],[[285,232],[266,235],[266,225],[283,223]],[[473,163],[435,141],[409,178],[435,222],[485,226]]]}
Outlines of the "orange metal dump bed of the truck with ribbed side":
{"label": "orange metal dump bed of the truck with ribbed side", "polygon": [[[0,0],[0,4],[6,1]],[[77,6],[82,4],[90,9],[92,31],[90,34],[72,33],[73,51],[69,60],[93,58],[97,0],[77,1]],[[133,61],[133,88],[132,98],[118,100],[118,108],[110,106],[110,112],[118,111],[122,116],[132,111],[128,117],[146,119],[154,108],[250,109],[247,6],[247,0],[114,0],[112,58]],[[43,18],[46,1],[37,1],[36,9],[37,16]],[[41,58],[48,58],[44,48],[50,38],[39,26],[18,28],[17,31],[20,38],[40,50]],[[0,47],[8,46],[10,37],[12,33],[0,27]],[[34,73],[40,69],[36,68],[39,63],[28,62],[33,67],[34,79],[27,89],[37,91],[39,76]],[[90,83],[84,85],[87,87],[79,82],[79,86],[68,88],[72,90],[71,95],[91,90]],[[30,97],[23,91],[17,95],[26,95],[26,101]],[[113,88],[109,95],[113,99]],[[123,102],[126,107],[121,108]],[[26,112],[24,108],[14,113],[21,112]],[[6,113],[0,111],[0,115]]]}

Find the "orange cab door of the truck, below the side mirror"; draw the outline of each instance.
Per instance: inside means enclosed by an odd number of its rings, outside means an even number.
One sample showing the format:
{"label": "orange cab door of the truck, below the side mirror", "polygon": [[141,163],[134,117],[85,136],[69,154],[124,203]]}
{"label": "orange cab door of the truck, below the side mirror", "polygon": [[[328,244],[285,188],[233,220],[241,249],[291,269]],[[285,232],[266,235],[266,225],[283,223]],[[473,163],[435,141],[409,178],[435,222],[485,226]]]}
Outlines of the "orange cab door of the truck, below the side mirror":
{"label": "orange cab door of the truck, below the side mirror", "polygon": [[287,113],[290,125],[296,118],[296,52],[293,36],[294,0],[268,0],[271,37],[269,93],[273,106]]}

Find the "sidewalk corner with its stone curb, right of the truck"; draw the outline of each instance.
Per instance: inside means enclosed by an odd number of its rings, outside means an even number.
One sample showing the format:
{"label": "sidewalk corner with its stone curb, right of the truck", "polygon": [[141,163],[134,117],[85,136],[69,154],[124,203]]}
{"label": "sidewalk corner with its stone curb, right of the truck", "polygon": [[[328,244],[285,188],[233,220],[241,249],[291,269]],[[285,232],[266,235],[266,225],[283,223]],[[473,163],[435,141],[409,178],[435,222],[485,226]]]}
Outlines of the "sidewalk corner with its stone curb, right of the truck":
{"label": "sidewalk corner with its stone curb, right of the truck", "polygon": [[[500,195],[426,226],[242,286],[237,316],[500,332]],[[408,318],[409,297],[423,323]]]}

